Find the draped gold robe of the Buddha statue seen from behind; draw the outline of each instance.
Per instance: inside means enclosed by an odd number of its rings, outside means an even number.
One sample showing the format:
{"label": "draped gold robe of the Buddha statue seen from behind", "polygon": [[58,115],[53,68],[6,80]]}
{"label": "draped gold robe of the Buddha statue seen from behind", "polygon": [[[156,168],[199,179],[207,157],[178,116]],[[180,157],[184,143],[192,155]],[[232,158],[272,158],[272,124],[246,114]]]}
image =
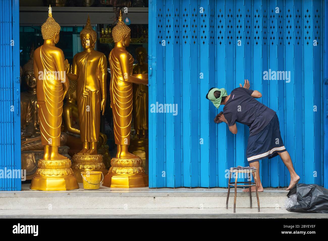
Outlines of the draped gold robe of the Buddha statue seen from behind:
{"label": "draped gold robe of the Buddha statue seen from behind", "polygon": [[[43,45],[40,48],[43,75],[37,79],[36,94],[39,108],[41,143],[43,146],[60,146],[63,112],[63,83],[58,77],[52,56]],[[59,73],[60,74],[60,73]]]}

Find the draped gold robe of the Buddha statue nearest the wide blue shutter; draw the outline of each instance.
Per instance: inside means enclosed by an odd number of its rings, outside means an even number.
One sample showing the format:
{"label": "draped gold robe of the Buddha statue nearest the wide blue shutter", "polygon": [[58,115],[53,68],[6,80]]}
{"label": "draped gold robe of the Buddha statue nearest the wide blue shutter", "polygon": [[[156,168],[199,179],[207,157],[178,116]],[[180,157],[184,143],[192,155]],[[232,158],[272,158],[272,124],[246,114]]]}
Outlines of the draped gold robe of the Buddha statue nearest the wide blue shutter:
{"label": "draped gold robe of the Buddha statue nearest the wide blue shutter", "polygon": [[[130,145],[132,121],[132,83],[124,81],[118,58],[110,53],[111,66],[111,107],[113,109],[114,139],[116,145]],[[129,53],[129,71],[132,75],[133,57]]]}

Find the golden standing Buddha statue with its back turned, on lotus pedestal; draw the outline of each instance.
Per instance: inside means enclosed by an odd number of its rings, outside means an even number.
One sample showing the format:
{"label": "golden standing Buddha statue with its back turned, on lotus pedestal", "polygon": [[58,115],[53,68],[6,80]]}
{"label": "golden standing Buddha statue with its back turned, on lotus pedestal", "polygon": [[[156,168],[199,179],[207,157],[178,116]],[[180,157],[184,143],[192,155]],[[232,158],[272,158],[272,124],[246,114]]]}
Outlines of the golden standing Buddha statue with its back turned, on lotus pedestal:
{"label": "golden standing Buddha statue with its back turned, on lotus pedestal", "polygon": [[37,107],[44,155],[32,178],[32,190],[60,191],[78,188],[70,159],[58,153],[63,99],[69,88],[63,51],[55,47],[59,41],[59,31],[60,26],[52,18],[49,6],[49,16],[41,26],[44,43],[34,51]]}

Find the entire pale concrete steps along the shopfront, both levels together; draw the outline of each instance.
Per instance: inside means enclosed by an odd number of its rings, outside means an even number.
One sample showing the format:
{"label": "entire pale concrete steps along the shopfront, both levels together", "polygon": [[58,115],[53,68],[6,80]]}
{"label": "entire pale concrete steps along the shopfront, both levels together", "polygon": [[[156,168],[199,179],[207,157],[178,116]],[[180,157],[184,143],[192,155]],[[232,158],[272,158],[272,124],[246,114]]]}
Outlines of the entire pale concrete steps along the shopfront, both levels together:
{"label": "entire pale concrete steps along the shopfront, both levels together", "polygon": [[293,213],[284,208],[288,191],[265,189],[259,193],[257,212],[255,193],[250,209],[249,193],[234,191],[225,209],[225,188],[119,189],[0,191],[0,218],[328,218],[328,214]]}

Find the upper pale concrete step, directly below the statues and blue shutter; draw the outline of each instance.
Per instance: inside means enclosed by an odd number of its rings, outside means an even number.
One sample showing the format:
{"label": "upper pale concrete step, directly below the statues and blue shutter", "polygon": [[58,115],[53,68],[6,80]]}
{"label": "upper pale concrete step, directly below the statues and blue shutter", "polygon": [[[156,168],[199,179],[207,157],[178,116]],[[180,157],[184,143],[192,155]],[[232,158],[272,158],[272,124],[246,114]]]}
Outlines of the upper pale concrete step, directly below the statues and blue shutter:
{"label": "upper pale concrete step, directly below the statues and blue shutter", "polygon": [[[227,189],[115,189],[101,187],[99,190],[72,191],[1,191],[2,210],[63,210],[63,209],[211,209],[225,208]],[[288,191],[265,189],[259,193],[261,208],[284,208]],[[254,210],[256,194],[252,193]],[[231,190],[229,208],[233,207],[234,192]],[[237,208],[249,208],[249,193],[237,191]]]}

